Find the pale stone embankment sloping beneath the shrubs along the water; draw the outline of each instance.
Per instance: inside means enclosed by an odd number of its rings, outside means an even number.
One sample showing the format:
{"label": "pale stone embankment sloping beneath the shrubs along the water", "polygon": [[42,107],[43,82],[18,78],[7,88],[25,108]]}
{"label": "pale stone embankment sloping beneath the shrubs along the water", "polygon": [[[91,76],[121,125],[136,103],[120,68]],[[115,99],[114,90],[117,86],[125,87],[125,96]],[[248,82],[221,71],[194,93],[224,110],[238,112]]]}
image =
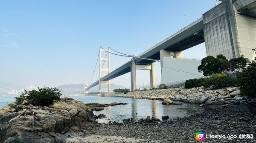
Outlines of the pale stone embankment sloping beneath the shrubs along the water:
{"label": "pale stone embankment sloping beneath the shrubs along the water", "polygon": [[195,87],[191,89],[185,88],[169,88],[162,90],[143,90],[133,91],[127,94],[116,95],[125,98],[140,98],[163,100],[172,99],[173,101],[182,101],[187,103],[199,104],[256,104],[256,98],[240,95],[239,87],[228,87],[221,90],[209,90],[204,87]]}

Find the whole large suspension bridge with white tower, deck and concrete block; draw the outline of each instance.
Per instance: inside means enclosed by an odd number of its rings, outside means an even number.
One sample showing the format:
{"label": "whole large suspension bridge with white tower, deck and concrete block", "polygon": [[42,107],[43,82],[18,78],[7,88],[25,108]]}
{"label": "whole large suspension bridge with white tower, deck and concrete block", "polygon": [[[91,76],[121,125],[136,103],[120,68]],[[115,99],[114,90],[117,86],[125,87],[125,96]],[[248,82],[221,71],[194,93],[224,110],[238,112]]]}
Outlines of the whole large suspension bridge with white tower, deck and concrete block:
{"label": "whole large suspension bridge with white tower, deck and concrete block", "polygon": [[[168,58],[183,58],[183,50],[203,42],[205,42],[207,56],[223,54],[227,59],[231,59],[243,55],[251,61],[255,56],[251,49],[256,45],[256,34],[253,32],[256,31],[256,0],[222,1],[222,3],[204,13],[202,18],[195,20],[139,56],[100,47],[97,58],[97,62],[99,60],[99,80],[94,83],[91,83],[91,80],[85,90],[99,85],[100,92],[101,84],[109,84],[108,90],[110,92],[110,80],[129,72],[131,72],[131,90],[135,90],[137,69],[150,70],[150,86],[153,88],[156,86],[154,62],[161,63],[163,74],[163,68],[165,68],[163,64],[168,61]],[[250,37],[247,37],[249,35]],[[107,52],[108,58],[107,55],[102,58],[102,52]],[[110,54],[130,57],[131,61],[110,72]],[[103,68],[102,61],[104,61],[103,65],[105,61],[108,61],[108,68]],[[172,64],[175,63],[169,63],[168,68],[178,70],[172,68]],[[93,75],[95,69],[96,66]],[[102,71],[108,72],[108,74],[102,77]],[[195,72],[186,70],[180,70],[180,72],[196,75]]]}

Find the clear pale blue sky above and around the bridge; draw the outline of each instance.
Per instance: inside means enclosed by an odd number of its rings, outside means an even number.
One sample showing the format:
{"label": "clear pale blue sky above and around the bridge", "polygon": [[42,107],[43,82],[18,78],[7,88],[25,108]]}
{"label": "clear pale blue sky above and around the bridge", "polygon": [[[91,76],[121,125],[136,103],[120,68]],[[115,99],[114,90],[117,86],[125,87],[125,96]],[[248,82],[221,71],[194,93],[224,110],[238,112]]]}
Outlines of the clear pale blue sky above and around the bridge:
{"label": "clear pale blue sky above and around the bridge", "polygon": [[[204,12],[215,6],[215,2],[1,0],[0,82],[35,87],[90,82],[100,46],[140,55],[201,18]],[[185,50],[183,55],[204,58],[204,43]],[[111,55],[111,71],[130,60]],[[136,74],[137,85],[149,84],[148,70],[137,70]],[[92,83],[98,75],[96,68]],[[160,79],[160,63],[157,62],[157,84]],[[130,87],[130,73],[111,82]]]}

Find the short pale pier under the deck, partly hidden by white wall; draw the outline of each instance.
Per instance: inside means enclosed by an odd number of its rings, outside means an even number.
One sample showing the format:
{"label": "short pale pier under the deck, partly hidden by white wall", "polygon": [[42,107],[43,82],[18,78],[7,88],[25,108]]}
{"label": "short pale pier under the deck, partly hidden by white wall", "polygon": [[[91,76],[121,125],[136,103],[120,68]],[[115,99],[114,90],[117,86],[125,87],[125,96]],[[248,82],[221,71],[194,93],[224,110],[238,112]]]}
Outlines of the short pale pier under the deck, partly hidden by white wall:
{"label": "short pale pier under the deck, partly hidden by white wall", "polygon": [[161,73],[162,73],[162,69],[163,69],[163,58],[164,57],[183,58],[183,52],[182,51],[160,50]]}

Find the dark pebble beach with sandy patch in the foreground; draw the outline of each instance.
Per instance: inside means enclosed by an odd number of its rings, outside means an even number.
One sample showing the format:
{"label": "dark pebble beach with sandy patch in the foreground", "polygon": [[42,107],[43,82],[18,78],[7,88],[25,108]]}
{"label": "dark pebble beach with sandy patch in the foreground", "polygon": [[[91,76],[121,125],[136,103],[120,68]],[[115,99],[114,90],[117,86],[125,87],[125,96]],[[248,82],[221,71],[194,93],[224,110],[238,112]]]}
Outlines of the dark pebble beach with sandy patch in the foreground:
{"label": "dark pebble beach with sandy patch in the foreground", "polygon": [[[196,132],[237,135],[237,138],[205,138],[204,143],[256,143],[254,106],[205,105],[203,108],[200,114],[168,121],[150,118],[139,121],[127,119],[124,123],[98,123],[92,130],[67,139],[67,143],[198,143]],[[254,137],[239,139],[240,134],[253,134]]]}

